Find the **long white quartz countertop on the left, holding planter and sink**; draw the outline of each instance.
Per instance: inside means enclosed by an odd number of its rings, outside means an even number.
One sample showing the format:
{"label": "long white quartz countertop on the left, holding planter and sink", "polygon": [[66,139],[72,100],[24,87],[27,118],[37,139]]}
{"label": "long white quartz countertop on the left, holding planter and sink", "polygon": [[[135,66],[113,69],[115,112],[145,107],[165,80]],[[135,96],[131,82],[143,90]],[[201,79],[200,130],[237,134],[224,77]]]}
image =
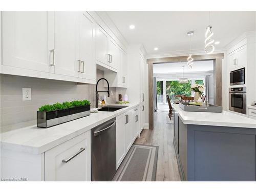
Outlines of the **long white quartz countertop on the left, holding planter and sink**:
{"label": "long white quartz countertop on the left, holding planter and sink", "polygon": [[47,129],[38,128],[36,125],[33,125],[5,132],[1,134],[1,149],[41,154],[138,105],[139,103],[130,103],[126,108],[115,112],[99,111],[98,113],[91,113],[90,116],[52,126]]}

